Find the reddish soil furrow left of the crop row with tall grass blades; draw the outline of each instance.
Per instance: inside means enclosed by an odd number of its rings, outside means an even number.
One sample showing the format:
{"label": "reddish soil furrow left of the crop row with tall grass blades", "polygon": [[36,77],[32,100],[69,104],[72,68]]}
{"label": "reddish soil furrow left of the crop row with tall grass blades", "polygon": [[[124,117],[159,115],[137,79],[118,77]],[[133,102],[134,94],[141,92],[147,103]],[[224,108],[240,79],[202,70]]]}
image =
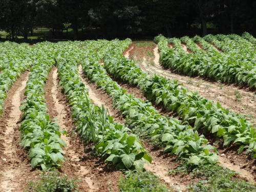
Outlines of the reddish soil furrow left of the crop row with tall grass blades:
{"label": "reddish soil furrow left of the crop row with tall grass blades", "polygon": [[117,182],[120,173],[94,157],[91,146],[83,146],[75,132],[70,106],[66,96],[61,93],[58,82],[57,69],[54,67],[46,82],[46,101],[48,109],[51,109],[49,111],[51,117],[57,118],[60,129],[67,132],[67,136],[61,136],[67,143],[67,147],[63,148],[66,152],[66,161],[61,167],[61,174],[77,178],[80,181],[78,184],[81,191],[107,192],[110,184],[112,191],[118,191]]}

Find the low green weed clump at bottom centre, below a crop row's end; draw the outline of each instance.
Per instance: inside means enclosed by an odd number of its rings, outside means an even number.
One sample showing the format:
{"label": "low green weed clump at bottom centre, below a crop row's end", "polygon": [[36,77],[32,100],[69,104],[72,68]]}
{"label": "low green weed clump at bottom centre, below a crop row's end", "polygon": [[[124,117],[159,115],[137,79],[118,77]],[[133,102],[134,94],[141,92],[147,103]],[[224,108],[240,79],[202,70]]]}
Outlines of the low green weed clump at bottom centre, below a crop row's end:
{"label": "low green weed clump at bottom centre, below a crop row's end", "polygon": [[120,192],[167,192],[168,188],[160,183],[151,172],[129,172],[119,180]]}

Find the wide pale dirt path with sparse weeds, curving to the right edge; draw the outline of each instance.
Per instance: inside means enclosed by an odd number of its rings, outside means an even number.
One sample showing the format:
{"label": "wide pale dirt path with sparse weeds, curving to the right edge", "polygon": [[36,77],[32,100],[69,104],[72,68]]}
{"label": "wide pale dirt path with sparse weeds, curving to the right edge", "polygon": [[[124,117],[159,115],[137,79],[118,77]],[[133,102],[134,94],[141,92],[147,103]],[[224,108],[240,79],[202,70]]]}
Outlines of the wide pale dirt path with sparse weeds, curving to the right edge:
{"label": "wide pale dirt path with sparse weeds, curving to the right edge", "polygon": [[[142,62],[140,63],[142,70],[170,79],[178,79],[189,90],[198,91],[201,96],[221,103],[224,108],[231,108],[230,111],[247,114],[250,118],[254,118],[251,122],[256,123],[256,94],[253,91],[248,88],[240,89],[236,84],[226,85],[224,83],[206,81],[200,77],[177,74],[160,66],[157,46],[154,48],[154,55],[154,65],[145,66],[145,62]],[[127,56],[127,58],[129,57]]]}

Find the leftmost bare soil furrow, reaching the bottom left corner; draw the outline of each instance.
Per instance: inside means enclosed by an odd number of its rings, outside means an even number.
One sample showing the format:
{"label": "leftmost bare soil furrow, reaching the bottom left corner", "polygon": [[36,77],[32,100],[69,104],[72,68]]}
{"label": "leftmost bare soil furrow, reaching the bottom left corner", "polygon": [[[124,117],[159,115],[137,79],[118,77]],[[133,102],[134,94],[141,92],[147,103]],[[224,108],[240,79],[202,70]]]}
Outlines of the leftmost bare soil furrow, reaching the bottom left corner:
{"label": "leftmost bare soil furrow, reaching the bottom left corner", "polygon": [[0,118],[0,191],[22,191],[28,179],[35,177],[32,173],[29,158],[20,146],[21,101],[29,71],[24,72],[13,84],[5,101],[5,109]]}

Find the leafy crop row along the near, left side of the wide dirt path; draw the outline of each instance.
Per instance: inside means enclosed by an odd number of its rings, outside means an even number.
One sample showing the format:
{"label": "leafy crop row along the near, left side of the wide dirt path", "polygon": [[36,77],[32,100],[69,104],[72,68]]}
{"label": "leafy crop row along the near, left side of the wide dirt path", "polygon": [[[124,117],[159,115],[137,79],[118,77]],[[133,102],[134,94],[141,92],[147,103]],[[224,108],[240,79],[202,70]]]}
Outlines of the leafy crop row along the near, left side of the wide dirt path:
{"label": "leafy crop row along the near, left side of the wide dirt path", "polygon": [[248,153],[256,152],[255,128],[241,115],[224,109],[220,103],[180,87],[177,80],[158,75],[150,77],[133,60],[118,52],[106,54],[104,67],[114,78],[138,86],[149,100],[163,105],[167,111],[176,112],[184,122],[194,125],[194,130],[215,133],[224,139],[225,146],[240,144],[239,153],[245,148],[248,148]]}

